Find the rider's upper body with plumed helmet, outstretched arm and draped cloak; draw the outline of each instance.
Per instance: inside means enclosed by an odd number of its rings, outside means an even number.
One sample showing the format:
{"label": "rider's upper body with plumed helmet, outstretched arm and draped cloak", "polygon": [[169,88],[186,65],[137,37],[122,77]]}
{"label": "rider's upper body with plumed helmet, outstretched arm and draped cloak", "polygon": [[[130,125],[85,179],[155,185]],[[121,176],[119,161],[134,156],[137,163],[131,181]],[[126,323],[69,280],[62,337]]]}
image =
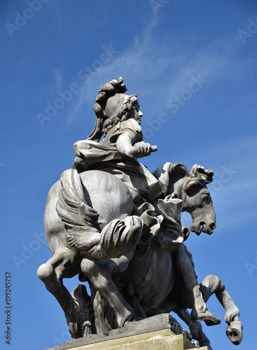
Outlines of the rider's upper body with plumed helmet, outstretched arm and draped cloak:
{"label": "rider's upper body with plumed helmet, outstretched arm and draped cloak", "polygon": [[[124,94],[127,89],[122,81],[112,80],[99,90],[94,106],[95,129],[86,141],[74,144],[77,156],[74,168],[78,172],[99,169],[115,174],[125,182],[137,205],[152,203],[162,195],[162,187],[137,162],[137,158],[151,154],[151,145],[143,141],[140,127],[143,114],[137,96]],[[99,141],[102,135],[104,138]]]}

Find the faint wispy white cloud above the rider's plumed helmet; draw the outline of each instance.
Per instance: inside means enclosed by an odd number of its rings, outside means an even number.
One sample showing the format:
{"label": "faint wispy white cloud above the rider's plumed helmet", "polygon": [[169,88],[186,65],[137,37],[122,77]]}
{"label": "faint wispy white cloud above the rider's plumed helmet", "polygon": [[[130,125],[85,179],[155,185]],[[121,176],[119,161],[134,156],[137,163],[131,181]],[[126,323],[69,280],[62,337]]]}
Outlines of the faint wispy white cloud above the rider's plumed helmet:
{"label": "faint wispy white cloud above the rider's plumed helmet", "polygon": [[81,87],[71,106],[68,120],[76,118],[85,103],[92,103],[101,85],[120,75],[125,78],[129,93],[136,92],[140,100],[147,96],[152,106],[155,102],[165,106],[171,96],[187,87],[192,75],[201,74],[209,84],[224,75],[236,78],[239,69],[235,52],[239,43],[232,34],[195,50],[188,48],[188,38],[182,35],[159,36],[157,27],[158,16],[155,16],[128,48],[91,74],[90,82]]}

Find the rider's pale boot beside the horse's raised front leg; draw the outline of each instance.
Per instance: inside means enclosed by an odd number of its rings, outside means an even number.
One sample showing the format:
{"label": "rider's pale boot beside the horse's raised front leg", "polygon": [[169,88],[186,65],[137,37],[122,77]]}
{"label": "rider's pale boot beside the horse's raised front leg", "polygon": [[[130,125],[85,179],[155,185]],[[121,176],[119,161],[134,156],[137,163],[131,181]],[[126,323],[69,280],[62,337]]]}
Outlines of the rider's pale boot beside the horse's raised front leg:
{"label": "rider's pale boot beside the horse's raised front leg", "polygon": [[221,320],[211,314],[211,311],[207,309],[198,283],[192,288],[190,299],[193,303],[191,312],[193,321],[204,321],[207,325],[218,325],[221,323]]}

